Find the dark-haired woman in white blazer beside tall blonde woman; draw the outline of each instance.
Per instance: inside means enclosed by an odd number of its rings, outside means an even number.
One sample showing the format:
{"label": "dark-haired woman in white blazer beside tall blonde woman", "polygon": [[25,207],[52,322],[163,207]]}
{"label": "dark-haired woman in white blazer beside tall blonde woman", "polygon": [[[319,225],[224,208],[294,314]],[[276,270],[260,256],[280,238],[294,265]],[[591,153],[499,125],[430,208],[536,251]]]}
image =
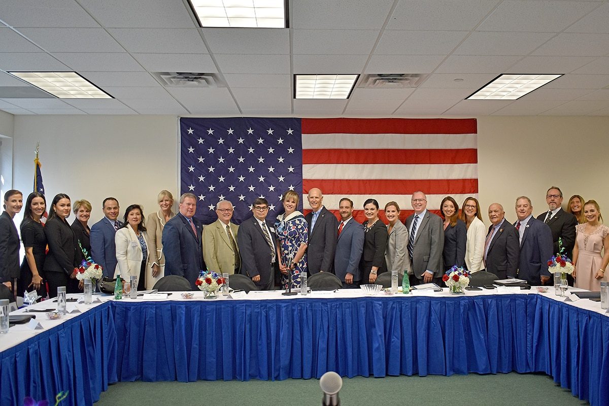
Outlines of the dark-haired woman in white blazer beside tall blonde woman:
{"label": "dark-haired woman in white blazer beside tall blonde woman", "polygon": [[144,213],[139,205],[131,205],[125,210],[124,225],[116,231],[116,271],[114,276],[121,275],[125,281],[131,276],[138,278],[138,290],[146,289],[145,272],[148,262],[148,245],[146,243],[146,226]]}

